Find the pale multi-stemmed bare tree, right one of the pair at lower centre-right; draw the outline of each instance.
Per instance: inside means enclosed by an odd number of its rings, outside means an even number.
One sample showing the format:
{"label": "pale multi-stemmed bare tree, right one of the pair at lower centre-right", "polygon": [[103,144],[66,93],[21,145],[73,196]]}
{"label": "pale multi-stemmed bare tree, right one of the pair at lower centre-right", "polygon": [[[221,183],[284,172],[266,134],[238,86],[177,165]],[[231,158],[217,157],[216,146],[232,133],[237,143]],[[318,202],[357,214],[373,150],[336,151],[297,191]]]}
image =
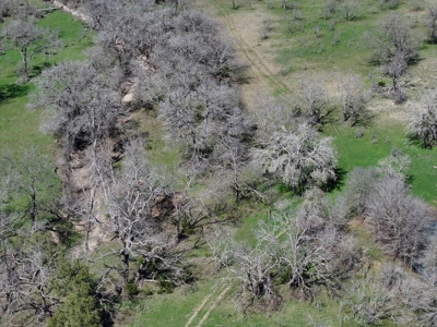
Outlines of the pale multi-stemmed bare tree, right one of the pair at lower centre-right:
{"label": "pale multi-stemmed bare tree, right one of the pair at lower centre-right", "polygon": [[339,282],[358,263],[353,238],[339,230],[330,216],[327,199],[315,189],[306,193],[295,221],[288,222],[283,257],[292,271],[287,286],[302,288],[311,296],[311,288],[317,286],[333,292],[341,288]]}

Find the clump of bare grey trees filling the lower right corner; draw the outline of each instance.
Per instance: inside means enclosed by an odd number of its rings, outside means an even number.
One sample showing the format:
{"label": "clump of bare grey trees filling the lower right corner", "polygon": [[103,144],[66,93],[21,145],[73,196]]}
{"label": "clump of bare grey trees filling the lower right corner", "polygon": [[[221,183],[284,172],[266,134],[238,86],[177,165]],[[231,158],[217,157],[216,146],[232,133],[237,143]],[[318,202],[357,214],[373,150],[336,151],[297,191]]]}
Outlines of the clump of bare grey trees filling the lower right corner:
{"label": "clump of bare grey trees filling the lower right corner", "polygon": [[[216,229],[208,243],[216,268],[227,268],[237,282],[241,308],[277,308],[287,296],[282,287],[286,286],[300,299],[312,299],[321,290],[341,295],[352,318],[362,324],[391,318],[399,324],[418,319],[417,326],[432,325],[434,216],[405,184],[408,161],[393,149],[378,167],[354,169],[335,199],[316,187],[306,192],[297,208],[277,203],[255,230],[251,245],[235,241],[232,229]],[[391,270],[381,268],[379,277],[369,272],[367,254],[349,232],[354,217],[364,221],[387,256],[403,267],[421,269],[421,275],[409,275],[394,264]],[[369,277],[351,279],[355,274]]]}

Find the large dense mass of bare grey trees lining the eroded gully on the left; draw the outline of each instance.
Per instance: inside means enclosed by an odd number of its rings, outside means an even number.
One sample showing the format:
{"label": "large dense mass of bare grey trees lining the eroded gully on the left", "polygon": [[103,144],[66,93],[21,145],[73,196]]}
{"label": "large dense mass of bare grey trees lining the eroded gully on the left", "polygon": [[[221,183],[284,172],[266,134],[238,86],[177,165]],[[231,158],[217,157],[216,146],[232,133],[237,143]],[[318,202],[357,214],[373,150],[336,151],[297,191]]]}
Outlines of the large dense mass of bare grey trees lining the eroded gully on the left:
{"label": "large dense mass of bare grey trees lining the eroded gully on the left", "polygon": [[[0,294],[4,324],[38,325],[49,318],[49,326],[74,319],[76,325],[99,326],[120,290],[131,295],[144,281],[169,289],[192,278],[182,261],[184,229],[211,219],[211,209],[191,199],[188,191],[177,194],[168,173],[146,161],[145,142],[123,129],[123,118],[131,111],[157,109],[172,145],[184,149],[186,173],[194,175],[216,167],[232,171],[239,198],[239,167],[249,160],[255,133],[234,89],[244,66],[204,15],[188,11],[180,1],[155,4],[84,3],[82,9],[98,32],[96,46],[85,53],[85,60],[56,64],[35,80],[29,107],[43,109],[43,131],[56,135],[63,147],[63,162],[57,169],[63,194],[50,201],[55,218],[39,217],[45,211],[34,202],[44,192],[32,184],[28,220],[14,214],[11,217],[17,220],[11,218],[2,228],[1,280],[8,283]],[[15,38],[24,41],[22,32],[35,36],[25,38],[24,46],[16,41],[23,60],[52,46],[40,37],[42,31],[28,15],[22,24],[5,23],[3,31],[11,45]],[[31,76],[27,69],[25,76]],[[123,101],[131,92],[134,101]],[[120,158],[121,166],[115,168]],[[35,160],[27,164],[35,165]],[[15,205],[8,194],[5,214]],[[16,199],[16,205],[21,202]],[[170,219],[174,213],[176,218]],[[103,257],[116,259],[99,276],[91,276],[83,264],[59,263],[62,255],[55,245],[70,239],[73,225],[84,226],[88,259],[90,234],[97,226],[110,244]],[[19,242],[12,231],[16,226],[26,242]],[[66,265],[67,272],[57,269]],[[67,278],[63,288],[59,287],[61,276]],[[82,304],[81,298],[85,299]]]}

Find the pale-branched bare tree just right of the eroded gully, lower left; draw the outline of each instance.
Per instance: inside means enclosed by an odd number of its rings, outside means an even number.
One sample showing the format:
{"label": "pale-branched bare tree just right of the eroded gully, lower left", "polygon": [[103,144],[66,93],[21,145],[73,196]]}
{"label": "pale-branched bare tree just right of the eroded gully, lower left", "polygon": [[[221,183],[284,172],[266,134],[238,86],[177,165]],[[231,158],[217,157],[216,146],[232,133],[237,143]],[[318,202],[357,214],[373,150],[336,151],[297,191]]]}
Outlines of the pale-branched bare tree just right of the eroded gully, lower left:
{"label": "pale-branched bare tree just right of the eroded gully, lower left", "polygon": [[156,210],[161,197],[167,194],[163,175],[149,167],[142,143],[133,141],[126,146],[120,173],[104,181],[103,197],[107,207],[107,228],[119,246],[111,253],[121,261],[119,268],[125,283],[132,276],[131,261],[141,258],[134,281],[156,281],[160,272],[164,279],[184,278],[177,242],[165,232],[162,213]]}

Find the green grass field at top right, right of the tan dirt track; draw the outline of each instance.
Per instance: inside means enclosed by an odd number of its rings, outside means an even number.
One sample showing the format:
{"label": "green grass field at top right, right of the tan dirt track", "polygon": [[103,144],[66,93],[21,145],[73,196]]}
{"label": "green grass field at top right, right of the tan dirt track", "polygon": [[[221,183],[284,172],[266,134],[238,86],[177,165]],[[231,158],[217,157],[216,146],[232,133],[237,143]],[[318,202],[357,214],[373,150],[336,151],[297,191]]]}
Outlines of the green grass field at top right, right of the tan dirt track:
{"label": "green grass field at top right, right of the tan dirt track", "polygon": [[[323,3],[321,0],[292,1],[298,5],[299,19],[295,19],[294,10],[284,10],[281,1],[273,1],[273,8],[268,9],[264,2],[255,1],[253,12],[258,13],[260,43],[265,43],[264,51],[274,53],[275,62],[286,71],[300,71],[304,68],[324,71],[355,71],[367,75],[374,70],[368,61],[371,51],[365,41],[365,34],[375,32],[386,15],[399,11],[404,15],[413,15],[406,4],[395,10],[379,10],[376,1],[359,1],[356,16],[346,21],[342,3],[336,5],[338,11],[326,20],[321,14]],[[228,9],[234,19],[241,12],[250,11],[249,7],[241,3],[238,10],[229,10],[229,1],[222,0],[221,5]],[[271,21],[269,38],[261,39],[262,21]],[[330,27],[331,22],[333,28]],[[290,26],[294,26],[291,32]],[[315,28],[319,29],[318,35]],[[418,24],[415,31],[423,32]]]}

